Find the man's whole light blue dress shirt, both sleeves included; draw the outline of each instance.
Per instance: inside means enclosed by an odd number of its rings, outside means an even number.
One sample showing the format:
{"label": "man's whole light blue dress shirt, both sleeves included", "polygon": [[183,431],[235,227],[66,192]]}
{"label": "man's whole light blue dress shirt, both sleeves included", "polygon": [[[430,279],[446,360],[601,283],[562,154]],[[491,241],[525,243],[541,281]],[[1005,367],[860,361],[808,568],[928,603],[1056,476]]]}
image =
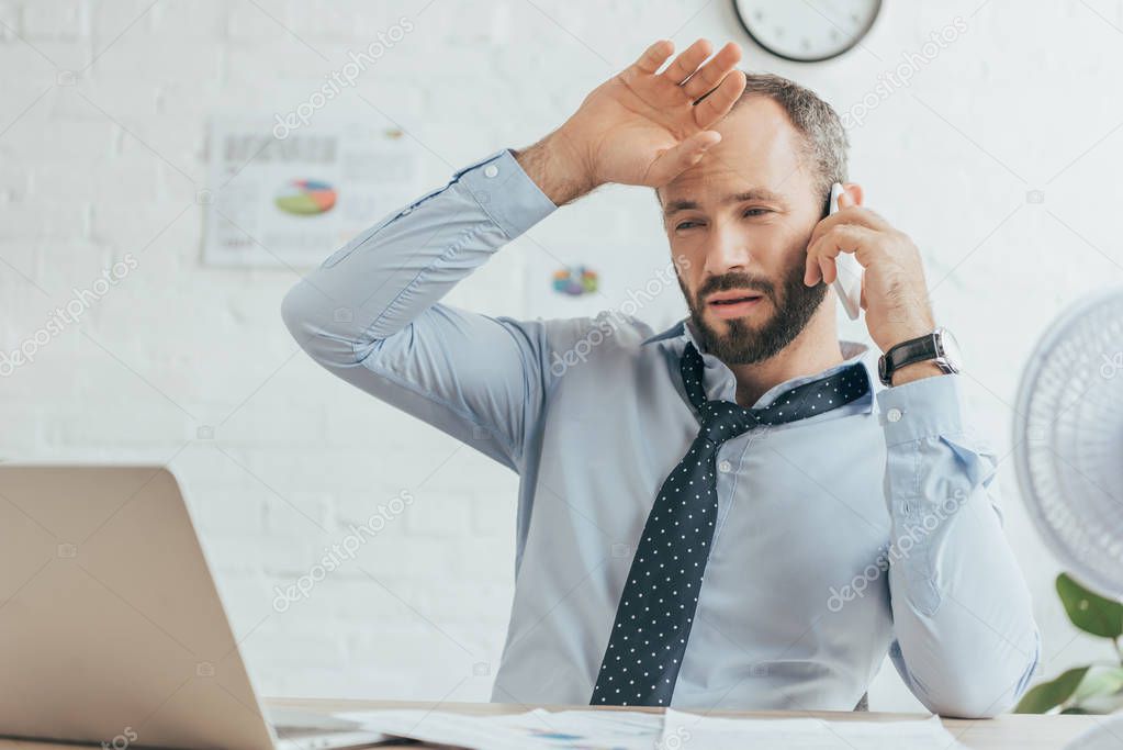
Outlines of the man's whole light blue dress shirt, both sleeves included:
{"label": "man's whole light blue dress shirt, both sleeves included", "polygon": [[[556,205],[502,149],[392,211],[285,296],[331,373],[520,477],[515,587],[492,699],[587,704],[655,494],[697,435],[688,319],[518,320],[440,299]],[[849,711],[888,653],[931,711],[989,716],[1040,657],[961,375],[752,430],[718,455],[719,521],[672,705]],[[702,347],[697,347],[702,350]],[[736,379],[702,353],[711,399]],[[418,450],[423,450],[418,446]]]}

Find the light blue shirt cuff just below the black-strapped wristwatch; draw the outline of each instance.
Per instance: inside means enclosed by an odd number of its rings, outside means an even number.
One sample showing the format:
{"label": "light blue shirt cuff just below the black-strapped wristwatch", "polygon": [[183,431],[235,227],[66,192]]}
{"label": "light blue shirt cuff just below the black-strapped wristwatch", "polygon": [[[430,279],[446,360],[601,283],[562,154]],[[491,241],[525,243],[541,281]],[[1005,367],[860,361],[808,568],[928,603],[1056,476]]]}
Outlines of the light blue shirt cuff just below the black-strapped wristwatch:
{"label": "light blue shirt cuff just below the black-strapped wristwatch", "polygon": [[962,432],[967,420],[961,377],[946,373],[878,391],[886,446]]}

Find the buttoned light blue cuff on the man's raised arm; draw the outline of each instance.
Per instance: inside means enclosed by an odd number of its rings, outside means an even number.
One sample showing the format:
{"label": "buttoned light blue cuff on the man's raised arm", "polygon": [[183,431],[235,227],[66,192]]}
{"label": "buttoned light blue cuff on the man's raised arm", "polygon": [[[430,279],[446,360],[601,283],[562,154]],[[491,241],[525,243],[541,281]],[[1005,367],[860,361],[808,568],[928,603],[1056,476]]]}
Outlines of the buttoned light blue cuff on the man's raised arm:
{"label": "buttoned light blue cuff on the man's raised arm", "polygon": [[523,172],[510,148],[469,164],[457,172],[455,179],[509,239],[523,234],[558,208]]}

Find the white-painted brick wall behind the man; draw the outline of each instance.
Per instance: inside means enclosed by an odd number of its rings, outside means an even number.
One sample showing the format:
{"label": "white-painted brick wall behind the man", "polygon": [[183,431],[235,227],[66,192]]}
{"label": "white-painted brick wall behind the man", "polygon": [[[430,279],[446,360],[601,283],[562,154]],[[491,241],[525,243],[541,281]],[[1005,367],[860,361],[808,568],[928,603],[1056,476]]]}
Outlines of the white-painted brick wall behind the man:
{"label": "white-painted brick wall behind the man", "polygon": [[[798,66],[756,49],[724,0],[0,0],[0,350],[113,262],[138,262],[0,379],[0,457],[171,460],[266,693],[486,698],[511,595],[515,477],[298,353],[279,317],[292,272],[199,260],[207,117],[289,111],[403,16],[414,30],[330,109],[383,121],[362,94],[384,111],[423,145],[430,186],[544,135],[658,37],[737,39],[746,66],[850,111],[960,17],[966,31],[851,130],[852,175],[923,249],[938,315],[960,331],[978,412],[1005,452],[1038,331],[1123,276],[1123,2],[886,6],[860,48]],[[1031,190],[1044,203],[1028,203]],[[542,247],[665,251],[650,214],[621,219],[615,195],[531,234]],[[449,300],[522,314],[520,256],[535,251],[517,244]],[[1001,482],[1044,670],[1104,656],[1074,640],[1054,603],[1056,564],[1008,460]],[[274,587],[403,491],[413,502],[355,559],[274,609]],[[917,706],[892,668],[873,704]]]}

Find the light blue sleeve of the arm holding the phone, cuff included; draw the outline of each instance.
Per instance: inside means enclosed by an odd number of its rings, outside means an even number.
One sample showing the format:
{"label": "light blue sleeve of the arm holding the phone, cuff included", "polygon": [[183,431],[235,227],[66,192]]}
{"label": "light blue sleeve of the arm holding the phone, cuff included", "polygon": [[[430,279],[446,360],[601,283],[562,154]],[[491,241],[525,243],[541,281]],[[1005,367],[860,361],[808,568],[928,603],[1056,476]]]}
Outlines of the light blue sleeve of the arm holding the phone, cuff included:
{"label": "light blue sleeve of the arm holding the phone, cuff included", "polygon": [[892,520],[889,657],[930,711],[994,716],[1024,694],[1041,639],[1002,529],[996,456],[969,427],[959,374],[879,391]]}

